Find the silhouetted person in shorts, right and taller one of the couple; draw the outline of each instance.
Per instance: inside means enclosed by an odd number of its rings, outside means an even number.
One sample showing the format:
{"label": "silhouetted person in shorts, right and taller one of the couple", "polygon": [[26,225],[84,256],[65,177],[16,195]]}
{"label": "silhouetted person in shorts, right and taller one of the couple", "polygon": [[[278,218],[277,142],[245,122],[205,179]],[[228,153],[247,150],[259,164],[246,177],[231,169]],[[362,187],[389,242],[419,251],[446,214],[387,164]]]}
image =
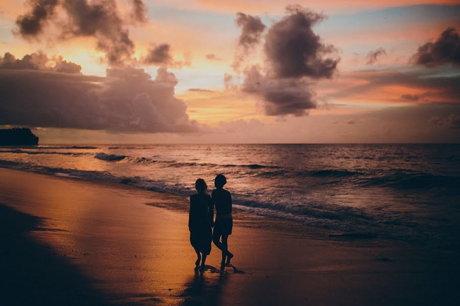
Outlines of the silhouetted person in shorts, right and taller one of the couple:
{"label": "silhouetted person in shorts, right and taller one of the couple", "polygon": [[[228,251],[227,239],[228,235],[232,234],[233,218],[232,218],[232,195],[223,189],[227,183],[225,176],[217,174],[214,179],[216,189],[212,193],[211,211],[214,215],[214,206],[216,207],[216,221],[214,222],[213,242],[222,251],[222,262],[220,268],[230,264],[233,254]],[[222,237],[222,242],[220,242]],[[225,258],[227,259],[225,262]]]}

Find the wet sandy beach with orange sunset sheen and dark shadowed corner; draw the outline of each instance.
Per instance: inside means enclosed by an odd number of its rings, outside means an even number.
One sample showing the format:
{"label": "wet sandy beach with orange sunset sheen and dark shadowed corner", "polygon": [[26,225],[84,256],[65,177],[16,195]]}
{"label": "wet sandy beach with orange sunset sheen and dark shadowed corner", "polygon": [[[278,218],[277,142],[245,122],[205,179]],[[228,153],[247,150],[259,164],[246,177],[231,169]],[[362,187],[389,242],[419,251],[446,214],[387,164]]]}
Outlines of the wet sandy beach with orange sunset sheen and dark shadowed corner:
{"label": "wet sandy beach with orange sunset sheen and dark shadowed corner", "polygon": [[[460,301],[455,248],[308,235],[237,213],[228,241],[237,269],[219,271],[213,246],[200,273],[185,197],[0,169],[0,203],[6,305]],[[163,208],[171,206],[178,209]]]}

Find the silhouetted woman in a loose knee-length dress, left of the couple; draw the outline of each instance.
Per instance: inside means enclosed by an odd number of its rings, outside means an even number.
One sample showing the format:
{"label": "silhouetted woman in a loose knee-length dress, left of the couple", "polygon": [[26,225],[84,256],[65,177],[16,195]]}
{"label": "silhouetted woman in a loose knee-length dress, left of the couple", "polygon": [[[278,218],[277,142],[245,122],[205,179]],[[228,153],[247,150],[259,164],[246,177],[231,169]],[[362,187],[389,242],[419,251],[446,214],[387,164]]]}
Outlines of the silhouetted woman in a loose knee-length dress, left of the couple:
{"label": "silhouetted woman in a loose knee-length dress, left of the couple", "polygon": [[201,269],[203,269],[206,256],[211,252],[211,241],[213,238],[211,226],[214,210],[210,210],[211,196],[207,193],[208,185],[206,185],[204,180],[196,180],[195,189],[197,193],[190,196],[190,242],[198,257],[195,266],[198,267],[201,260]]}

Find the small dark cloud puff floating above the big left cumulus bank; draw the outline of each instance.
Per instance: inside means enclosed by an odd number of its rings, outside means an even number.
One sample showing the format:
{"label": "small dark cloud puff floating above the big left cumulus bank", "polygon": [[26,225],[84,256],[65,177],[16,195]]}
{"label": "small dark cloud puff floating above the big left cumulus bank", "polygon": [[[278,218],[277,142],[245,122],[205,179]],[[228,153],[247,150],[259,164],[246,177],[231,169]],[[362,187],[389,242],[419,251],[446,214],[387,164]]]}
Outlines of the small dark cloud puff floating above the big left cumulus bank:
{"label": "small dark cloud puff floating above the big left cumulus bank", "polygon": [[167,43],[152,44],[147,49],[147,54],[141,57],[141,62],[146,65],[182,68],[183,66],[190,66],[190,55],[184,55],[183,61],[175,61],[171,53],[171,45]]}

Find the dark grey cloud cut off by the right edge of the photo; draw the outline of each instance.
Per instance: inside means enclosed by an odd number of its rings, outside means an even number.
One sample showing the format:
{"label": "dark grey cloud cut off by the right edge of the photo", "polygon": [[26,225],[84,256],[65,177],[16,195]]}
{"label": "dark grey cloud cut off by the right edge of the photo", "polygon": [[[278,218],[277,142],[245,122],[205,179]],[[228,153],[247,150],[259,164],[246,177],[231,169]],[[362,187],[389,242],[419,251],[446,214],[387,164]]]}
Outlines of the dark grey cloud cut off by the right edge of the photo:
{"label": "dark grey cloud cut off by the right edge of the photo", "polygon": [[447,28],[435,42],[419,47],[411,61],[417,65],[436,67],[444,64],[460,66],[460,38],[454,28]]}

